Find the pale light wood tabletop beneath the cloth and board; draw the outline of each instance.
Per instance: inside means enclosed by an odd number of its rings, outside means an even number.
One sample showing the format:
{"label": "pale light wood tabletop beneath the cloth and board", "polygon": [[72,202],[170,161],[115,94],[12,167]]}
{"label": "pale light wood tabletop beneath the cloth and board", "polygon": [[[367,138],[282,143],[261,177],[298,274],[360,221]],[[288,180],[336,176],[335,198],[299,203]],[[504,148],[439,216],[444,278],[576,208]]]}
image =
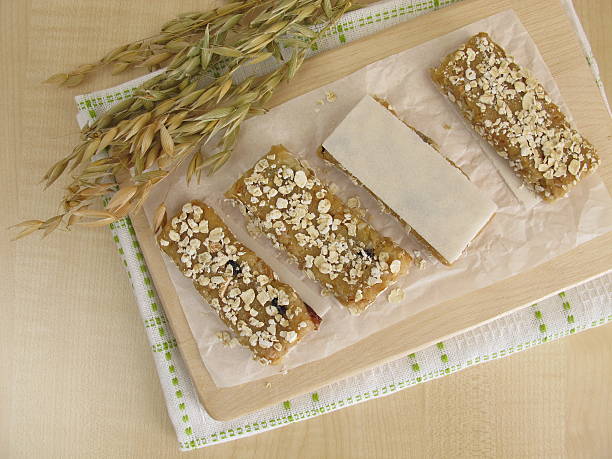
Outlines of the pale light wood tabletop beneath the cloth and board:
{"label": "pale light wood tabletop beneath the cloth and board", "polygon": [[[77,138],[71,96],[120,80],[74,90],[40,81],[146,36],[179,8],[213,3],[0,2],[3,226],[51,215],[61,191],[43,196],[37,182]],[[612,2],[575,4],[612,87]],[[179,457],[109,232],[8,239],[0,234],[0,456]],[[610,381],[607,326],[189,456],[610,456]]]}

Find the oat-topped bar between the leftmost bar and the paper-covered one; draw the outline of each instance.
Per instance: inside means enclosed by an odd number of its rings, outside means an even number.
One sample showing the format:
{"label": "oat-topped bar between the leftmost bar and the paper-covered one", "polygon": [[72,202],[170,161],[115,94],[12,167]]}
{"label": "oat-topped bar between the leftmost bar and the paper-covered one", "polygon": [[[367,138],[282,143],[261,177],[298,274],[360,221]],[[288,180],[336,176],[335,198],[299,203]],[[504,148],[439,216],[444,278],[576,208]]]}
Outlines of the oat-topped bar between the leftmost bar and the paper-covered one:
{"label": "oat-topped bar between the leftmost bar and the paper-covered one", "polygon": [[363,312],[412,258],[381,236],[283,146],[274,146],[226,193],[313,280]]}

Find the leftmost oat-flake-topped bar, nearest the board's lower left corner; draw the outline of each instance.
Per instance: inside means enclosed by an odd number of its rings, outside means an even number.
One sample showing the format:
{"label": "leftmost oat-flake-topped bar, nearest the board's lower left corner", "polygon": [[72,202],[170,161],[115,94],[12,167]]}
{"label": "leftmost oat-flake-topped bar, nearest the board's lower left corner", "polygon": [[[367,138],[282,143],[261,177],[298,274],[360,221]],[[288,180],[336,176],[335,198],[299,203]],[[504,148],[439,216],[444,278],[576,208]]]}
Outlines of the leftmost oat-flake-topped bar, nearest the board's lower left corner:
{"label": "leftmost oat-flake-topped bar, nearest the board's lower left corner", "polygon": [[321,319],[213,209],[186,203],[163,228],[162,250],[262,364],[277,364]]}

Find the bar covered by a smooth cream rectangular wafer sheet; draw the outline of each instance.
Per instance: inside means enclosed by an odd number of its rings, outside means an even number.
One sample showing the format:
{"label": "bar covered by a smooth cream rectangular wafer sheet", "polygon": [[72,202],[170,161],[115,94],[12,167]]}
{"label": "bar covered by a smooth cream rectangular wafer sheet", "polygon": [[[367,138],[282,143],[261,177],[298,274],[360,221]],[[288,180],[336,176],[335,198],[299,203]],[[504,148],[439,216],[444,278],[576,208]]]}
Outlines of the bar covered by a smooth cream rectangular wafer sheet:
{"label": "bar covered by a smooth cream rectangular wafer sheet", "polygon": [[319,155],[372,193],[440,261],[451,264],[497,206],[433,145],[384,101],[365,96],[325,139]]}

